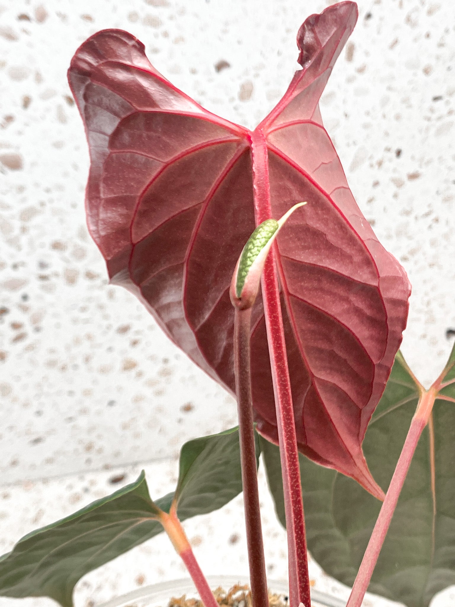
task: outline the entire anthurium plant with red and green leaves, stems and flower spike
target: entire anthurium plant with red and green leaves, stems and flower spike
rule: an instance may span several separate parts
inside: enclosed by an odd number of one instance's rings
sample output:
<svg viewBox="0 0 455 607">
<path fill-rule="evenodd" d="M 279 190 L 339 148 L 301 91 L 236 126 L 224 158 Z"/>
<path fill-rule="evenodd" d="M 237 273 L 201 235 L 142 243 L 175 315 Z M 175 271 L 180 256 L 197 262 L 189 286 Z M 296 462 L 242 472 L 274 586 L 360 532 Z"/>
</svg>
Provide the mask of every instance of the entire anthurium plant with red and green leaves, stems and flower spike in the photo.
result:
<svg viewBox="0 0 455 607">
<path fill-rule="evenodd" d="M 426 607 L 455 583 L 455 351 L 429 390 L 399 353 L 410 285 L 318 107 L 356 20 L 354 2 L 306 19 L 301 69 L 254 131 L 176 89 L 127 32 L 76 51 L 87 221 L 110 280 L 237 397 L 238 428 L 184 444 L 175 492 L 152 499 L 141 474 L 19 540 L 0 559 L 0 594 L 71 607 L 81 576 L 165 531 L 215 607 L 181 521 L 243 491 L 252 604 L 266 607 L 260 455 L 287 529 L 291 607 L 311 606 L 307 547 L 352 585 L 347 607 L 368 588 Z"/>
</svg>

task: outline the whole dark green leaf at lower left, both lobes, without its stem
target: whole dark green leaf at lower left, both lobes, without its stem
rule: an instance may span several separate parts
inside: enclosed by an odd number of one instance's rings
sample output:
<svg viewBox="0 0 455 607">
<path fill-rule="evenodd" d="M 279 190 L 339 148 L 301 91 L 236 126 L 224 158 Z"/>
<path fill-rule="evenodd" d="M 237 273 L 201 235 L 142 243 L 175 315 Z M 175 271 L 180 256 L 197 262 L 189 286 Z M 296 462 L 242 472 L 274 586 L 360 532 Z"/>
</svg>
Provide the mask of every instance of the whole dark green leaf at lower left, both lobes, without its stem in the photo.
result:
<svg viewBox="0 0 455 607">
<path fill-rule="evenodd" d="M 0 595 L 47 596 L 72 607 L 76 582 L 161 533 L 157 519 L 161 510 L 169 512 L 173 501 L 178 517 L 185 520 L 221 508 L 240 492 L 237 428 L 189 441 L 181 449 L 174 493 L 153 502 L 141 472 L 135 483 L 25 535 L 0 558 Z"/>
</svg>

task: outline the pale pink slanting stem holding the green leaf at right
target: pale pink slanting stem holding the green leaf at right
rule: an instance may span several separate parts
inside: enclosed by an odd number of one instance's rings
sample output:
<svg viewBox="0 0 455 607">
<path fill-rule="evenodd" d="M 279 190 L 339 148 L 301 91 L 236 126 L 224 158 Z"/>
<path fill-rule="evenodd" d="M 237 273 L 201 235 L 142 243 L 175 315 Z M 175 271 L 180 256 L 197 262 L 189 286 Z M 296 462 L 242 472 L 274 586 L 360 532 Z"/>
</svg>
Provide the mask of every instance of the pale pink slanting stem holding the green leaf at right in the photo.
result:
<svg viewBox="0 0 455 607">
<path fill-rule="evenodd" d="M 360 607 L 362 605 L 363 597 L 368 589 L 403 483 L 405 482 L 409 466 L 411 465 L 414 451 L 416 450 L 420 435 L 422 434 L 428 419 L 430 419 L 436 395 L 437 387 L 435 387 L 434 384 L 428 392 L 422 390 L 420 393 L 416 413 L 414 413 L 411 426 L 409 426 L 405 444 L 403 445 L 385 500 L 380 509 L 379 517 L 377 518 L 373 532 L 369 538 L 368 546 L 363 555 L 362 563 L 360 564 L 359 572 L 357 572 L 357 577 L 352 586 L 351 595 L 349 596 L 346 607 Z"/>
</svg>

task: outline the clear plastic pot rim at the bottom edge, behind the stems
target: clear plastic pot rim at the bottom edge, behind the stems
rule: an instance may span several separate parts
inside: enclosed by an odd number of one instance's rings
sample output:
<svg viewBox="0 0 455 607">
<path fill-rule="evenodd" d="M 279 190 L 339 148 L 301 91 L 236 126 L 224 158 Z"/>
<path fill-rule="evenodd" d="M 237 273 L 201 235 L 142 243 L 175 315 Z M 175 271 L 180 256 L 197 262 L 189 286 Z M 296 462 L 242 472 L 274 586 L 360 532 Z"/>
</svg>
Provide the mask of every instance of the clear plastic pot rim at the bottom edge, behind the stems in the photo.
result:
<svg viewBox="0 0 455 607">
<path fill-rule="evenodd" d="M 244 575 L 207 575 L 207 581 L 211 588 L 221 586 L 224 590 L 229 590 L 235 584 L 248 584 L 248 578 Z M 288 594 L 288 585 L 286 582 L 268 581 L 269 589 L 276 594 Z M 185 578 L 183 580 L 172 580 L 171 582 L 161 582 L 153 586 L 144 586 L 138 590 L 133 590 L 121 597 L 116 597 L 98 605 L 97 607 L 167 607 L 171 597 L 181 597 L 186 594 L 187 597 L 197 597 L 197 592 L 192 580 Z M 335 597 L 331 597 L 324 592 L 314 590 L 311 592 L 312 607 L 345 607 L 346 603 Z"/>
</svg>

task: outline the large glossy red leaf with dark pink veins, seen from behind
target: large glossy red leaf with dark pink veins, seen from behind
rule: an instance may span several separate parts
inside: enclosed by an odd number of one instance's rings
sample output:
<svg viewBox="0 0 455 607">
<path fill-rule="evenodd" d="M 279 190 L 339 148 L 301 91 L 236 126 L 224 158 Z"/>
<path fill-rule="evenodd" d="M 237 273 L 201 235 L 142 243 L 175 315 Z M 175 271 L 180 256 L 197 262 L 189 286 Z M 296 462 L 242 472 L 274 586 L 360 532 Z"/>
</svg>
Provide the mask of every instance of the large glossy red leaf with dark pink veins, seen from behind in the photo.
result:
<svg viewBox="0 0 455 607">
<path fill-rule="evenodd" d="M 298 447 L 380 495 L 361 444 L 410 288 L 352 197 L 318 109 L 356 19 L 353 2 L 306 19 L 297 36 L 303 69 L 260 127 L 273 216 L 308 201 L 277 239 Z M 69 80 L 90 146 L 89 229 L 112 282 L 138 294 L 170 339 L 233 392 L 229 283 L 255 227 L 251 132 L 172 86 L 121 30 L 84 42 Z M 251 342 L 258 429 L 276 442 L 260 298 Z"/>
</svg>

